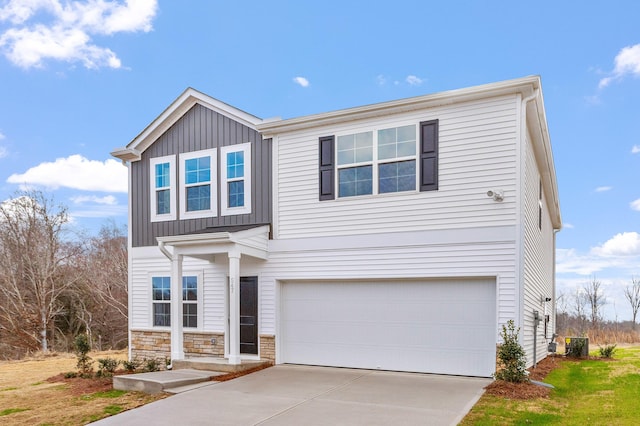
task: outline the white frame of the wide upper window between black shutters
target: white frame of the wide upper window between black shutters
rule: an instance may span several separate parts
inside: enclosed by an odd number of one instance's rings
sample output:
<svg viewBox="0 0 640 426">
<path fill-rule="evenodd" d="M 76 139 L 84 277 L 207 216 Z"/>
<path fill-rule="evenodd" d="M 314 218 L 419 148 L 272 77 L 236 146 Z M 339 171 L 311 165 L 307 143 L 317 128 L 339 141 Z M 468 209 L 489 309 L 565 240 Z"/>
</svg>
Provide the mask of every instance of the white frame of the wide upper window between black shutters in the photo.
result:
<svg viewBox="0 0 640 426">
<path fill-rule="evenodd" d="M 386 129 L 397 129 L 400 127 L 406 126 L 414 126 L 415 129 L 415 151 L 412 156 L 401 156 L 394 158 L 378 158 L 378 132 Z M 339 164 L 338 162 L 338 139 L 341 136 L 355 135 L 359 133 L 372 133 L 372 159 L 369 161 L 361 161 L 349 164 Z M 334 191 L 336 199 L 350 199 L 350 198 L 359 198 L 359 197 L 378 197 L 378 196 L 388 196 L 391 194 L 409 194 L 416 193 L 420 191 L 420 126 L 419 123 L 415 121 L 407 121 L 407 122 L 398 122 L 398 123 L 389 123 L 388 125 L 381 125 L 375 127 L 366 127 L 359 129 L 350 129 L 348 132 L 340 132 L 335 134 L 335 148 L 334 148 L 334 162 L 335 162 L 335 181 L 334 181 Z M 400 163 L 403 161 L 414 161 L 415 162 L 415 186 L 414 189 L 408 191 L 392 191 L 392 192 L 380 192 L 380 165 L 381 164 L 390 164 L 390 163 Z M 372 166 L 372 183 L 371 183 L 371 193 L 370 194 L 362 194 L 362 195 L 349 195 L 349 196 L 340 196 L 340 170 L 351 169 L 360 166 Z"/>
</svg>

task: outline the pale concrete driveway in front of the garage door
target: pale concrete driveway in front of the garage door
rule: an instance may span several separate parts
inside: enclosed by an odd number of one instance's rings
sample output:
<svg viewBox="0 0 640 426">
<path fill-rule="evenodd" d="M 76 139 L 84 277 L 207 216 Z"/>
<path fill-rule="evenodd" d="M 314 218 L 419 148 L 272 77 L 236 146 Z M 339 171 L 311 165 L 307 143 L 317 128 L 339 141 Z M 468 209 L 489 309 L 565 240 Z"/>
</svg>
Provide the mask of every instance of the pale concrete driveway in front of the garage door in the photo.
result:
<svg viewBox="0 0 640 426">
<path fill-rule="evenodd" d="M 96 425 L 455 425 L 491 379 L 277 365 Z"/>
</svg>

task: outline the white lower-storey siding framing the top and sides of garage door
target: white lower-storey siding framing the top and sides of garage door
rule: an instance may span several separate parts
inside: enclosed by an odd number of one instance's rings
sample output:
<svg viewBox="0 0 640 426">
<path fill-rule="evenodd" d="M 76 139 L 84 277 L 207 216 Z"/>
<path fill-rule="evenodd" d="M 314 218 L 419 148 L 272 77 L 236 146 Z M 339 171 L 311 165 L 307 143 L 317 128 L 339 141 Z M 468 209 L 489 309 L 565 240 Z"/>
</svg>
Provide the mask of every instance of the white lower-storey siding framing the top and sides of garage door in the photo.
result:
<svg viewBox="0 0 640 426">
<path fill-rule="evenodd" d="M 261 333 L 276 333 L 278 282 L 300 280 L 492 277 L 503 323 L 516 315 L 515 254 L 511 226 L 273 240 L 261 268 Z"/>
</svg>

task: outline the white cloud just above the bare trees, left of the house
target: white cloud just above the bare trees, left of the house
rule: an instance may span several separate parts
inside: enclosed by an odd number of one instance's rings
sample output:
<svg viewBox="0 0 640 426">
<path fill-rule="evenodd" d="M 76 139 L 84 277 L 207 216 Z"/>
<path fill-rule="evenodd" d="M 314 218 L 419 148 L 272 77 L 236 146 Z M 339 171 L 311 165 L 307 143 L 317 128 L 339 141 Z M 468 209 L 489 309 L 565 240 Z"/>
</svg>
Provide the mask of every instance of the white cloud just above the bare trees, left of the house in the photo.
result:
<svg viewBox="0 0 640 426">
<path fill-rule="evenodd" d="M 76 154 L 41 163 L 22 174 L 13 174 L 7 182 L 51 189 L 127 192 L 127 168 L 116 160 L 88 160 Z"/>
</svg>

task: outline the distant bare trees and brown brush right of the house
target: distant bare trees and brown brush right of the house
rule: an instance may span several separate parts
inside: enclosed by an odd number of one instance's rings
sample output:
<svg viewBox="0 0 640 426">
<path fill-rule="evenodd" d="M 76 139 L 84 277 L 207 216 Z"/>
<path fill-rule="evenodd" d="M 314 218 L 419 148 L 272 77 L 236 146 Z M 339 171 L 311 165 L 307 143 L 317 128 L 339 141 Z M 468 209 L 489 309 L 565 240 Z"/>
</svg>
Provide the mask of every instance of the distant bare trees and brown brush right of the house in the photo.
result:
<svg viewBox="0 0 640 426">
<path fill-rule="evenodd" d="M 556 298 L 556 330 L 561 336 L 589 336 L 594 343 L 637 343 L 640 341 L 638 312 L 640 311 L 640 279 L 631 277 L 624 288 L 631 307 L 631 318 L 607 321 L 603 317 L 606 295 L 602 282 L 595 276 L 574 293 L 562 293 Z"/>
</svg>

